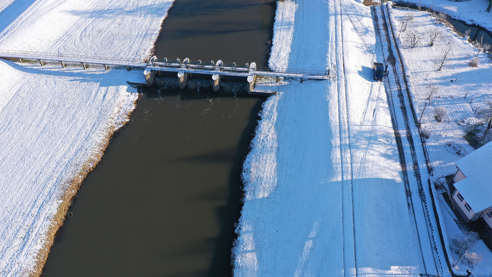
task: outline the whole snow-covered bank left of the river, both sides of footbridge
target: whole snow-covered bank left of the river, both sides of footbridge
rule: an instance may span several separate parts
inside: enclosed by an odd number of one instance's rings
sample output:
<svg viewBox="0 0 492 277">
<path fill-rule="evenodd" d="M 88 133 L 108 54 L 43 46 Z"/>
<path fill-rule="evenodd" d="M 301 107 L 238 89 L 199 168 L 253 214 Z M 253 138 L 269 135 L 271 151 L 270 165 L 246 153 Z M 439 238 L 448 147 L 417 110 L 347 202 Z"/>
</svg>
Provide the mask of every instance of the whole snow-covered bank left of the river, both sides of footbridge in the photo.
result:
<svg viewBox="0 0 492 277">
<path fill-rule="evenodd" d="M 145 58 L 173 0 L 0 1 L 0 49 Z M 140 70 L 0 60 L 0 276 L 39 274 L 63 211 L 138 98 Z"/>
</svg>

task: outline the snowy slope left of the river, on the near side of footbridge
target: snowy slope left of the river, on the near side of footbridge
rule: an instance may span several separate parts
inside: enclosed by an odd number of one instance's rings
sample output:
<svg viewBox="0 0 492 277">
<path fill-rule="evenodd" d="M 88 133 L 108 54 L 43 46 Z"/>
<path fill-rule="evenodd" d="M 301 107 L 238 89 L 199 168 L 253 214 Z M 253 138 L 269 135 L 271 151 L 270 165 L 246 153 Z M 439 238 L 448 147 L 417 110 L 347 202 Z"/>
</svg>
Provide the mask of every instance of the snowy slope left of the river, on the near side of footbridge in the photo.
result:
<svg viewBox="0 0 492 277">
<path fill-rule="evenodd" d="M 0 276 L 33 268 L 67 183 L 138 96 L 126 85 L 137 71 L 45 67 L 0 60 Z"/>
</svg>

